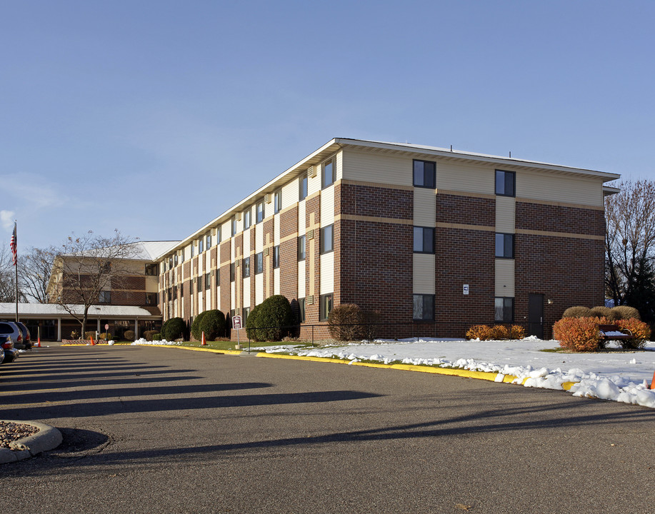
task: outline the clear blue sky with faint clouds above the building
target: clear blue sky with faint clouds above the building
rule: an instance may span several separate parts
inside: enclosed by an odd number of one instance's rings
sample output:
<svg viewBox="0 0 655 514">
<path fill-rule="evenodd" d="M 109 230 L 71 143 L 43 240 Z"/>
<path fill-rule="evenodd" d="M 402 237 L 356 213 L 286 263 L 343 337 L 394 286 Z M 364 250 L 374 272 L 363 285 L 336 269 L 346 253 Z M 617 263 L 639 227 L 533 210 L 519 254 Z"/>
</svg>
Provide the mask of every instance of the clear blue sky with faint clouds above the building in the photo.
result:
<svg viewBox="0 0 655 514">
<path fill-rule="evenodd" d="M 0 234 L 184 238 L 333 137 L 655 178 L 655 2 L 2 2 Z"/>
</svg>

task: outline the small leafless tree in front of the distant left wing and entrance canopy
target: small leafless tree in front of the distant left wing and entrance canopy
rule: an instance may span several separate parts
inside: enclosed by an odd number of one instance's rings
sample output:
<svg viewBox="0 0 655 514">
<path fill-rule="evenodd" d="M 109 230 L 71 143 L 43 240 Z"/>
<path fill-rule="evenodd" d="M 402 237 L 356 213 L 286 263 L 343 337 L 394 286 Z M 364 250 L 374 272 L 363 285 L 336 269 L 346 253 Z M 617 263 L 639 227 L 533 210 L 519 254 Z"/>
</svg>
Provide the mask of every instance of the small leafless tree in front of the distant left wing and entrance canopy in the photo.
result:
<svg viewBox="0 0 655 514">
<path fill-rule="evenodd" d="M 58 303 L 81 324 L 81 336 L 86 330 L 89 308 L 107 303 L 112 289 L 123 288 L 129 273 L 128 261 L 137 248 L 129 237 L 114 231 L 114 236 L 69 236 L 54 258 L 48 289 L 50 301 Z"/>
</svg>

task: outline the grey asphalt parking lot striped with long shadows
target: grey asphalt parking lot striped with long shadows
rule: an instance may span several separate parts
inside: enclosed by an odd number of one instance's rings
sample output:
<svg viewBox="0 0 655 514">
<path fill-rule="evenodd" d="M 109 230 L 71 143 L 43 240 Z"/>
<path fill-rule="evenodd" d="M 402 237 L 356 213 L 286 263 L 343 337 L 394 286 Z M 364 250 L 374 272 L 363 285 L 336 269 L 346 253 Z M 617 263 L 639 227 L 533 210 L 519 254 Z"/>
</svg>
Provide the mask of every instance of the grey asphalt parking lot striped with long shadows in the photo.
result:
<svg viewBox="0 0 655 514">
<path fill-rule="evenodd" d="M 39 348 L 0 419 L 64 442 L 0 466 L 11 513 L 654 510 L 655 412 L 425 373 L 138 346 Z"/>
</svg>

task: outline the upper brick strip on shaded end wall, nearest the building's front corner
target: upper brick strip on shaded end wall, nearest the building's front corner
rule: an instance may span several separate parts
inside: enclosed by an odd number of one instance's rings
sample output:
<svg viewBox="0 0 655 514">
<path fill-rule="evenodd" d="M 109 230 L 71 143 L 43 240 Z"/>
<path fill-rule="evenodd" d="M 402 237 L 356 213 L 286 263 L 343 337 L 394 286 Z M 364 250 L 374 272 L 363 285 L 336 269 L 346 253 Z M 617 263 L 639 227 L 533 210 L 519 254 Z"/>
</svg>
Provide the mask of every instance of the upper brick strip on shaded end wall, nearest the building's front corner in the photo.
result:
<svg viewBox="0 0 655 514">
<path fill-rule="evenodd" d="M 414 217 L 414 192 L 343 184 L 335 186 L 334 204 L 341 214 L 375 218 L 411 219 Z"/>
</svg>

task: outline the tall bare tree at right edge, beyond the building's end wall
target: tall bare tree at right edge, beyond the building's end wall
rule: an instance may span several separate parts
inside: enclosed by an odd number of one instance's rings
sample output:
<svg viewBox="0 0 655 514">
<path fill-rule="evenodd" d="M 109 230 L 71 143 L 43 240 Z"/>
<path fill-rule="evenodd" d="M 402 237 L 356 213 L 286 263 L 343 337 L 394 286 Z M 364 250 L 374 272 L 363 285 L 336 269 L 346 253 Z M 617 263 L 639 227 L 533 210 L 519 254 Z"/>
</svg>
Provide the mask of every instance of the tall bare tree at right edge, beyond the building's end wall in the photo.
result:
<svg viewBox="0 0 655 514">
<path fill-rule="evenodd" d="M 615 305 L 654 321 L 655 181 L 624 181 L 605 198 L 605 288 Z"/>
</svg>

